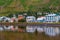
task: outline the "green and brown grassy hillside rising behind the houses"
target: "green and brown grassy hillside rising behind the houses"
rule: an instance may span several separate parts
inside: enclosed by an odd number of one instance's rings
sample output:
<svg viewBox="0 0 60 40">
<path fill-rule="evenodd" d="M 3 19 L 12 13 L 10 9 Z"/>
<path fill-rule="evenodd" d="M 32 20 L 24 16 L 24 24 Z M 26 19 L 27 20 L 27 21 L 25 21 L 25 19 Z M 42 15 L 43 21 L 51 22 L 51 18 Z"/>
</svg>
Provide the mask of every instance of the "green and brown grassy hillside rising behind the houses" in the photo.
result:
<svg viewBox="0 0 60 40">
<path fill-rule="evenodd" d="M 60 0 L 0 0 L 0 13 L 42 11 L 44 8 L 57 11 L 60 9 Z"/>
</svg>

